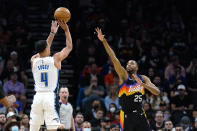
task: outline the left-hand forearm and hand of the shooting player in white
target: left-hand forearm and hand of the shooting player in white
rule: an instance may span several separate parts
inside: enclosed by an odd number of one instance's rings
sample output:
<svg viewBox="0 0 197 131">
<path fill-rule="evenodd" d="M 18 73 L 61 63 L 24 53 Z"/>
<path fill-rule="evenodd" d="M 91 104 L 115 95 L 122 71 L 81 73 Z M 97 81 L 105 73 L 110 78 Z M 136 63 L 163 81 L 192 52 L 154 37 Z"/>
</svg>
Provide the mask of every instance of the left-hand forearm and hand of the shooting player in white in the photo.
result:
<svg viewBox="0 0 197 131">
<path fill-rule="evenodd" d="M 59 25 L 57 21 L 52 20 L 51 22 L 51 32 L 47 38 L 47 44 L 51 47 L 55 34 L 57 33 Z"/>
</svg>

